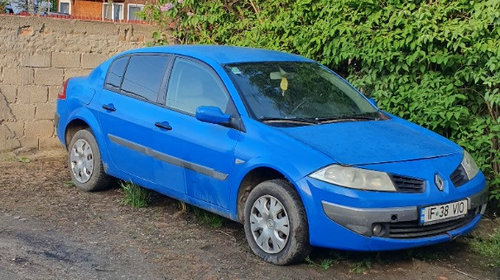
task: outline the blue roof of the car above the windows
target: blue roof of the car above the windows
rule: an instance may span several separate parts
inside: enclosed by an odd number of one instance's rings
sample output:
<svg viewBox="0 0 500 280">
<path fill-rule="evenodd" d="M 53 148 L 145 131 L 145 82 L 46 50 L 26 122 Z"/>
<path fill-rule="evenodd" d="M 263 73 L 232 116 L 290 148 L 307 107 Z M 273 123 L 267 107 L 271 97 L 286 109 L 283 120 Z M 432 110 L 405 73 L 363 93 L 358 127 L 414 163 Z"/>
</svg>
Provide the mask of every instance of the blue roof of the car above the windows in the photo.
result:
<svg viewBox="0 0 500 280">
<path fill-rule="evenodd" d="M 126 53 L 168 53 L 190 56 L 202 61 L 213 61 L 218 64 L 264 62 L 264 61 L 297 61 L 313 62 L 308 58 L 266 49 L 216 45 L 171 45 L 161 47 L 140 48 Z"/>
</svg>

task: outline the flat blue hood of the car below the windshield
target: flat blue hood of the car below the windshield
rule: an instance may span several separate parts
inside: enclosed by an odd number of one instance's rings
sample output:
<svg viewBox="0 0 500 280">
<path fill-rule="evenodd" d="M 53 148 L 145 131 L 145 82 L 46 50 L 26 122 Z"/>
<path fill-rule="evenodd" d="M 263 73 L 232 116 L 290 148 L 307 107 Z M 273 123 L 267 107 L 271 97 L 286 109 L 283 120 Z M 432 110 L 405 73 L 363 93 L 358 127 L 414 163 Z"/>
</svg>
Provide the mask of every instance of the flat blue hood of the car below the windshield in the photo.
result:
<svg viewBox="0 0 500 280">
<path fill-rule="evenodd" d="M 396 117 L 279 129 L 348 165 L 418 160 L 461 152 L 448 139 Z"/>
</svg>

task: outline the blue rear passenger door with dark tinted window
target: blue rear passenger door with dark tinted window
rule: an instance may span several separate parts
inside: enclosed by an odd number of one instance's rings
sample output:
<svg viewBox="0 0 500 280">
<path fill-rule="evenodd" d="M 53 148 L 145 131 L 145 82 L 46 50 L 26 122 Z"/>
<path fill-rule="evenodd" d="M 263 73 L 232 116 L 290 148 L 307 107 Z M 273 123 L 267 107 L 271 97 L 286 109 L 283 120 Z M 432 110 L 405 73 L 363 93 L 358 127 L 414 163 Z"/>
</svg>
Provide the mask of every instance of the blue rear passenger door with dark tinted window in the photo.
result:
<svg viewBox="0 0 500 280">
<path fill-rule="evenodd" d="M 153 160 L 153 147 L 168 145 L 168 123 L 159 123 L 167 111 L 160 105 L 171 56 L 137 54 L 117 58 L 110 66 L 98 100 L 98 116 L 112 164 L 125 177 L 155 182 L 168 174 L 168 186 L 185 194 L 184 171 Z"/>
</svg>

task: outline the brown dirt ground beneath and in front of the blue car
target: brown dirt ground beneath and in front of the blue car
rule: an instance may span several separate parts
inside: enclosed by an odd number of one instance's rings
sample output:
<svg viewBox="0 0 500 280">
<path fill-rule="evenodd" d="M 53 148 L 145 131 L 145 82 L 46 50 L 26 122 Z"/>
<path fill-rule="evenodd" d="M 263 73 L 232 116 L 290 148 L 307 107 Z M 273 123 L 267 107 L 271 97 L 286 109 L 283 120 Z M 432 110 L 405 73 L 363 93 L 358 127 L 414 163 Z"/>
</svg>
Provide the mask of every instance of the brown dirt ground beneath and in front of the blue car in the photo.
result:
<svg viewBox="0 0 500 280">
<path fill-rule="evenodd" d="M 287 267 L 257 259 L 243 227 L 203 224 L 176 200 L 120 203 L 114 188 L 85 193 L 70 183 L 64 154 L 0 160 L 0 279 L 500 279 L 466 238 L 383 253 L 314 249 Z M 478 233 L 499 226 L 482 222 Z"/>
</svg>

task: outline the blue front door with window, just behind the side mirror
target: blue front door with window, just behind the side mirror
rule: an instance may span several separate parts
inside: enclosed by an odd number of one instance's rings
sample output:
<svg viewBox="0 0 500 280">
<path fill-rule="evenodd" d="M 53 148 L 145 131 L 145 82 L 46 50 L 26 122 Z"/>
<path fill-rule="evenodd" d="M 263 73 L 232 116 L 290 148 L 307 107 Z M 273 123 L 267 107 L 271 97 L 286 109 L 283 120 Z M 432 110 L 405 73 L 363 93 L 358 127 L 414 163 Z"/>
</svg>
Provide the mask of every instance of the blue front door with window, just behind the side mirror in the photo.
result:
<svg viewBox="0 0 500 280">
<path fill-rule="evenodd" d="M 233 102 L 218 75 L 201 62 L 177 57 L 168 81 L 163 115 L 172 129 L 168 146 L 158 149 L 183 166 L 187 194 L 222 208 L 229 205 L 228 176 L 234 168 L 234 148 L 240 131 L 196 119 L 199 106 L 216 106 L 236 115 Z M 158 183 L 169 178 L 157 176 Z"/>
</svg>

